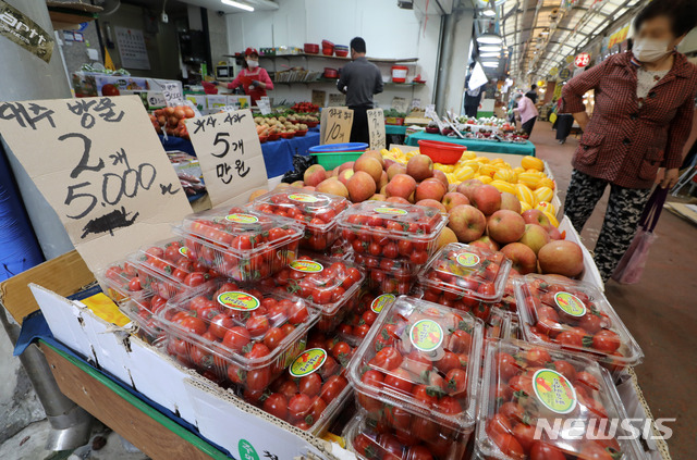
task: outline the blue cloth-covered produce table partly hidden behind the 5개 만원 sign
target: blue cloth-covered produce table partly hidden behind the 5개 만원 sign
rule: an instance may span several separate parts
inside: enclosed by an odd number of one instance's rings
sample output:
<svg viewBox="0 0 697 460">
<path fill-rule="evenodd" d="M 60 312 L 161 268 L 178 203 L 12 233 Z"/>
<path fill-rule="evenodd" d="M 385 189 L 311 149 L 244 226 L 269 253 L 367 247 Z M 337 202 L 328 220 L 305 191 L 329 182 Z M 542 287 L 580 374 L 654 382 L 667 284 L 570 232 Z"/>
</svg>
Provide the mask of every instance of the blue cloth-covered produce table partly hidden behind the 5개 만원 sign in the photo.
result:
<svg viewBox="0 0 697 460">
<path fill-rule="evenodd" d="M 169 136 L 167 139 L 164 136 L 159 137 L 166 151 L 181 150 L 196 156 L 189 140 L 174 136 Z M 309 130 L 303 137 L 261 144 L 267 177 L 282 176 L 288 171 L 293 171 L 293 156 L 307 154 L 307 150 L 315 146 L 319 146 L 319 129 Z"/>
</svg>

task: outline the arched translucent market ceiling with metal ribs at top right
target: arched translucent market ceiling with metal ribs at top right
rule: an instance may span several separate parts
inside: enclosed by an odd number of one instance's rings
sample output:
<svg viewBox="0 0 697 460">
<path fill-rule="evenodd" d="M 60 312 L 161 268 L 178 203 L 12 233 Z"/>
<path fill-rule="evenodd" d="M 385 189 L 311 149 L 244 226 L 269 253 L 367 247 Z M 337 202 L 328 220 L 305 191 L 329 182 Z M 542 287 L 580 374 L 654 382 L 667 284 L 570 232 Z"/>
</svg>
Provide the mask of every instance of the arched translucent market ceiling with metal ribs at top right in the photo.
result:
<svg viewBox="0 0 697 460">
<path fill-rule="evenodd" d="M 643 0 L 505 0 L 499 32 L 511 75 L 543 78 Z"/>
</svg>

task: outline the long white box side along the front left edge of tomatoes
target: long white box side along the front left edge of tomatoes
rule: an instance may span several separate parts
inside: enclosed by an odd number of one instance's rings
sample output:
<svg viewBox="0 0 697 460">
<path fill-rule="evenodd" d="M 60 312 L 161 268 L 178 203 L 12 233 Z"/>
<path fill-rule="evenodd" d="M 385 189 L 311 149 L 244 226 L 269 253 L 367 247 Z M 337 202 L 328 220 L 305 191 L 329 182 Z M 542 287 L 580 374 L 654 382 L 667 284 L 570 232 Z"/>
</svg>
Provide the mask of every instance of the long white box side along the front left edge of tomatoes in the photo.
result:
<svg viewBox="0 0 697 460">
<path fill-rule="evenodd" d="M 230 450 L 235 458 L 248 458 L 247 449 L 259 452 L 258 458 L 266 451 L 273 452 L 279 460 L 292 460 L 307 452 L 333 458 L 328 443 L 274 421 L 129 335 L 129 330 L 96 316 L 81 302 L 35 284 L 29 287 L 58 340 L 197 426 L 204 437 Z"/>
</svg>

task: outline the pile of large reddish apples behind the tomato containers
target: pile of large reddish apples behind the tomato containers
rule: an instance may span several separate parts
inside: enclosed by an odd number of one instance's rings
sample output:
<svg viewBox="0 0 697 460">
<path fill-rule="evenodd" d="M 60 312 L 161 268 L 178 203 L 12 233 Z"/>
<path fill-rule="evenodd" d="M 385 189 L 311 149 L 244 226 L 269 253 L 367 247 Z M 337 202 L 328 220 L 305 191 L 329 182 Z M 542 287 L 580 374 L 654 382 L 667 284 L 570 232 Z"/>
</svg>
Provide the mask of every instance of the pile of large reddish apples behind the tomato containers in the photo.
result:
<svg viewBox="0 0 697 460">
<path fill-rule="evenodd" d="M 439 246 L 460 241 L 501 251 L 513 262 L 514 274 L 575 277 L 584 269 L 580 247 L 564 240 L 557 219 L 548 211 L 523 210 L 518 197 L 476 178 L 449 184 L 445 173 L 424 154 L 412 156 L 403 165 L 371 150 L 332 171 L 311 165 L 304 181 L 291 185 L 353 202 L 379 200 L 436 208 L 450 217 Z"/>
</svg>

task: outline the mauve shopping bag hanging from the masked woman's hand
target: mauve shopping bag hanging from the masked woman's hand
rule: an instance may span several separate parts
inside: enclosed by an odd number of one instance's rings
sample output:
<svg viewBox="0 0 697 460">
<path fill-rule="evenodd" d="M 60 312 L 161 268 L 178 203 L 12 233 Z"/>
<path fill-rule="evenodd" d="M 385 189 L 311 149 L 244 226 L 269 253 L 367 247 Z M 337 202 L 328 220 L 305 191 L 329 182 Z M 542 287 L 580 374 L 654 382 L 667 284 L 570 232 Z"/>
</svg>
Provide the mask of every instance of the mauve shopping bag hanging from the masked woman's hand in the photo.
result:
<svg viewBox="0 0 697 460">
<path fill-rule="evenodd" d="M 649 249 L 657 238 L 653 229 L 658 223 L 658 217 L 661 215 L 667 197 L 668 188 L 656 187 L 641 214 L 639 231 L 632 240 L 629 249 L 620 260 L 612 274 L 612 279 L 621 284 L 636 284 L 641 279 L 641 273 L 644 273 L 644 266 L 649 257 Z"/>
</svg>

